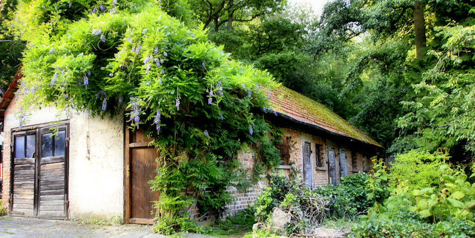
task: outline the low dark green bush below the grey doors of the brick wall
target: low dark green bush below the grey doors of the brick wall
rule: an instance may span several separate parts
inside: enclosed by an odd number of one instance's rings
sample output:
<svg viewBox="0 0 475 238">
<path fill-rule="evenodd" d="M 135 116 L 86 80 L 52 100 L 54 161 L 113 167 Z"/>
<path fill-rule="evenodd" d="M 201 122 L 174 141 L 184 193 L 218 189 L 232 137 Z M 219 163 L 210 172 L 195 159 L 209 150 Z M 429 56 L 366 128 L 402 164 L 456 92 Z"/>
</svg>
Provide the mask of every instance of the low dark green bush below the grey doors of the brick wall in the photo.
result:
<svg viewBox="0 0 475 238">
<path fill-rule="evenodd" d="M 366 198 L 366 195 L 372 192 L 368 181 L 369 177 L 365 173 L 348 175 L 341 179 L 338 186 L 333 184 L 321 186 L 315 192 L 330 201 L 328 215 L 352 217 L 374 205 L 373 200 Z M 377 193 L 376 199 L 381 201 L 384 195 Z"/>
</svg>

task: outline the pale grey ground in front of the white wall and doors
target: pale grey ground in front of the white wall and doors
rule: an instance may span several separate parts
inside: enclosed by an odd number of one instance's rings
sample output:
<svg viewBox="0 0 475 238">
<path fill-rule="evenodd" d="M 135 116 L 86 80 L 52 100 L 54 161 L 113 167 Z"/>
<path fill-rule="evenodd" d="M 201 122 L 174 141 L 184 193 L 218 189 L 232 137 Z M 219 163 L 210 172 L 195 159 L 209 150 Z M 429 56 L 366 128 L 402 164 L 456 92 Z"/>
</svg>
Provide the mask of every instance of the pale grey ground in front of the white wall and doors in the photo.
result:
<svg viewBox="0 0 475 238">
<path fill-rule="evenodd" d="M 76 221 L 51 221 L 36 218 L 0 217 L 0 238 L 167 238 L 152 233 L 151 225 L 95 225 Z M 184 238 L 211 238 L 184 234 Z"/>
</svg>

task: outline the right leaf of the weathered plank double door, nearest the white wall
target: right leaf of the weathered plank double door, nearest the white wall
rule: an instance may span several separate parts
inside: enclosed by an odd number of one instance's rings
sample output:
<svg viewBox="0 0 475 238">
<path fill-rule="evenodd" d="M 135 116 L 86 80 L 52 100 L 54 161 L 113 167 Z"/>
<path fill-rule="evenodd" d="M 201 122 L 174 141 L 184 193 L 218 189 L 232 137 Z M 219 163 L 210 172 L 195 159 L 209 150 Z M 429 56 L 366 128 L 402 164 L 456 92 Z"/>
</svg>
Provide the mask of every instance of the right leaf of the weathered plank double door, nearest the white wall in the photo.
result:
<svg viewBox="0 0 475 238">
<path fill-rule="evenodd" d="M 37 164 L 39 218 L 67 218 L 67 134 L 66 127 L 58 128 L 55 134 L 49 128 L 40 130 Z"/>
</svg>

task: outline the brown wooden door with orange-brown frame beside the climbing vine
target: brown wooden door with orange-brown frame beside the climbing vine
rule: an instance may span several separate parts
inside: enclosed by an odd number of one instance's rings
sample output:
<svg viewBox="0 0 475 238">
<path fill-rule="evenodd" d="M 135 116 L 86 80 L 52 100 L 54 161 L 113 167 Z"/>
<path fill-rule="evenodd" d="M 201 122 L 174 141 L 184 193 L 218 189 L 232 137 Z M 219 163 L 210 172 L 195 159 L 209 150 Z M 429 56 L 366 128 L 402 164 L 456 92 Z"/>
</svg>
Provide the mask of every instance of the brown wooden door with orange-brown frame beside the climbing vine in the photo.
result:
<svg viewBox="0 0 475 238">
<path fill-rule="evenodd" d="M 159 193 L 152 192 L 149 180 L 157 175 L 157 149 L 149 147 L 150 138 L 143 130 L 131 132 L 126 129 L 126 222 L 153 223 L 153 201 Z"/>
</svg>

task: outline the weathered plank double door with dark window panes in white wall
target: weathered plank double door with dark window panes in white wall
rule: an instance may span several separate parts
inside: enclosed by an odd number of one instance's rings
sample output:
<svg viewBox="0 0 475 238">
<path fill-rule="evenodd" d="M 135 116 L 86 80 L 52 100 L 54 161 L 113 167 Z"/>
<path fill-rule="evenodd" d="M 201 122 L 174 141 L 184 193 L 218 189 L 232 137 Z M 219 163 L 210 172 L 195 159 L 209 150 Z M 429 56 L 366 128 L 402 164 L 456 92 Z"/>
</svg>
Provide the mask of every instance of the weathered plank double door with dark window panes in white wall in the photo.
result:
<svg viewBox="0 0 475 238">
<path fill-rule="evenodd" d="M 67 219 L 68 137 L 67 124 L 12 133 L 12 215 Z"/>
</svg>

